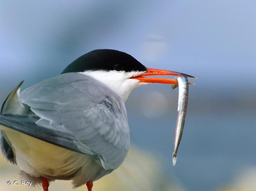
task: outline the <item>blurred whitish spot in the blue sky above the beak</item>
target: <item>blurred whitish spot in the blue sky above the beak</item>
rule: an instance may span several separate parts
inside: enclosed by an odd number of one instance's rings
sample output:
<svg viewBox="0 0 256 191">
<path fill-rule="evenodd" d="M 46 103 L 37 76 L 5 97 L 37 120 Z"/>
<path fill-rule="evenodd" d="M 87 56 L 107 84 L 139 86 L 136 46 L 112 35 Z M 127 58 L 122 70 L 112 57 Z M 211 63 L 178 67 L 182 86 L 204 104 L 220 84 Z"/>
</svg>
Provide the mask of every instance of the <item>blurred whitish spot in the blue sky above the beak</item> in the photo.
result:
<svg viewBox="0 0 256 191">
<path fill-rule="evenodd" d="M 149 35 L 142 43 L 142 58 L 145 62 L 156 62 L 166 50 L 167 43 L 163 36 Z"/>
</svg>

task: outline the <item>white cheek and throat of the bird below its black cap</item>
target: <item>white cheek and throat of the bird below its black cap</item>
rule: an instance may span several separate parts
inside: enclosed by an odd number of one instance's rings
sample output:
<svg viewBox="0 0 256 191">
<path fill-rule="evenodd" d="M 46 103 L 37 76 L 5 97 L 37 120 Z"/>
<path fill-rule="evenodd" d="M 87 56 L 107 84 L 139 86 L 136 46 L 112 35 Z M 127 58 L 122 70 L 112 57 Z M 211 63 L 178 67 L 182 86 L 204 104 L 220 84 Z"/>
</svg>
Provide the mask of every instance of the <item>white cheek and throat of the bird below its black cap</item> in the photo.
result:
<svg viewBox="0 0 256 191">
<path fill-rule="evenodd" d="M 130 77 L 137 76 L 144 72 L 140 71 L 84 71 L 81 74 L 90 76 L 107 87 L 112 91 L 116 92 L 119 97 L 125 102 L 130 94 L 130 92 L 136 87 L 145 85 L 147 83 L 140 83 L 137 79 L 129 79 Z"/>
</svg>

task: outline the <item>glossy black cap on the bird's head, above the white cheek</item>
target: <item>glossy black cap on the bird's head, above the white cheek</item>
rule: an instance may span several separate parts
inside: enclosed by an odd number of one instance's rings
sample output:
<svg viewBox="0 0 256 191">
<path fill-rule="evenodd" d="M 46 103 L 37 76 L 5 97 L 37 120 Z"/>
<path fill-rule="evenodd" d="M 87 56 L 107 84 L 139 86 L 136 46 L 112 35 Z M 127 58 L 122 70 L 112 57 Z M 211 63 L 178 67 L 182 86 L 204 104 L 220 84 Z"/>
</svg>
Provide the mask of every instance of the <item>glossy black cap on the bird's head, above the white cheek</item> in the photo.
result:
<svg viewBox="0 0 256 191">
<path fill-rule="evenodd" d="M 147 71 L 142 65 L 131 55 L 118 50 L 98 49 L 92 50 L 76 59 L 61 73 L 84 72 L 84 71 Z"/>
</svg>

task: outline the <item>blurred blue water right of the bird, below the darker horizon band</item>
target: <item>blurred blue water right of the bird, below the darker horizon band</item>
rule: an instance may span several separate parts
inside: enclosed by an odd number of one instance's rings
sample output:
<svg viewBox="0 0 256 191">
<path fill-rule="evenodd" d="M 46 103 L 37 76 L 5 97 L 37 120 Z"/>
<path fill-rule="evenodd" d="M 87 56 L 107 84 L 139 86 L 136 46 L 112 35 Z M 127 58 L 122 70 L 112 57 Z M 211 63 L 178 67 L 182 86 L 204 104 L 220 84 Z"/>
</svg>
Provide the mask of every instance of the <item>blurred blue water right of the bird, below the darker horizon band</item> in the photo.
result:
<svg viewBox="0 0 256 191">
<path fill-rule="evenodd" d="M 172 167 L 175 112 L 143 119 L 129 115 L 132 141 L 164 159 L 165 170 L 187 190 L 211 191 L 230 183 L 243 168 L 256 165 L 254 113 L 188 111 L 175 167 Z M 142 136 L 143 134 L 143 136 Z"/>
</svg>

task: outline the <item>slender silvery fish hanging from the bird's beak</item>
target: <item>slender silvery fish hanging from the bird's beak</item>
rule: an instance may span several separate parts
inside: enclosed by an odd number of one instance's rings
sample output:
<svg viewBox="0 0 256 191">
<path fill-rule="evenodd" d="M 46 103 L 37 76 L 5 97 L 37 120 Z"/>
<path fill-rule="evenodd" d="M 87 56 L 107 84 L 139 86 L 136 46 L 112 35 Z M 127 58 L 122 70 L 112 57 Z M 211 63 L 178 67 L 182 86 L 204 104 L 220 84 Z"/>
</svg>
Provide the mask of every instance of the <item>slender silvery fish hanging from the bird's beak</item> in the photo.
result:
<svg viewBox="0 0 256 191">
<path fill-rule="evenodd" d="M 176 129 L 174 136 L 174 151 L 172 154 L 172 165 L 175 166 L 177 161 L 177 152 L 178 147 L 180 145 L 180 141 L 182 138 L 186 113 L 187 113 L 187 105 L 188 105 L 188 79 L 185 76 L 177 76 L 178 81 L 178 109 L 177 109 L 177 121 L 176 121 Z M 172 89 L 175 89 L 177 85 L 172 86 Z"/>
</svg>

